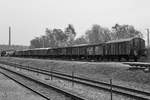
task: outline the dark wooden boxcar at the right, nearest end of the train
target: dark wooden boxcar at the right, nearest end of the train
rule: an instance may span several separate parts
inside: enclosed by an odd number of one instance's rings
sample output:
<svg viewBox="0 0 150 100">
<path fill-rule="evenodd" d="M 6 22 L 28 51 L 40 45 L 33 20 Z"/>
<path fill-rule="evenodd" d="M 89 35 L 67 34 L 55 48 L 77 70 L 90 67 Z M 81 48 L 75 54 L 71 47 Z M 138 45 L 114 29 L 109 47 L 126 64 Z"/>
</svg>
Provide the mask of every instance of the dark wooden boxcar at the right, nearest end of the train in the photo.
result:
<svg viewBox="0 0 150 100">
<path fill-rule="evenodd" d="M 135 61 L 143 54 L 145 41 L 142 38 L 128 38 L 106 42 L 105 57 L 107 59 L 125 58 Z"/>
</svg>

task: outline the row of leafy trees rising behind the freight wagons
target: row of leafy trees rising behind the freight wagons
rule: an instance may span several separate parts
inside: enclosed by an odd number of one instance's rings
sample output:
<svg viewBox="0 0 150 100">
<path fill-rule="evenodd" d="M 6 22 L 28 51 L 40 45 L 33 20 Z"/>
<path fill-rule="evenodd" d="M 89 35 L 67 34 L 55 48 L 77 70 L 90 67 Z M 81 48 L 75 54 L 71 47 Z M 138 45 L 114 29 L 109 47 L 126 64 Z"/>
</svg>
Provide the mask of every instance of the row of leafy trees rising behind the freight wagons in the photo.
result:
<svg viewBox="0 0 150 100">
<path fill-rule="evenodd" d="M 110 40 L 125 39 L 131 37 L 143 37 L 142 33 L 132 25 L 114 25 L 111 29 L 94 24 L 84 35 L 76 38 L 73 25 L 69 24 L 62 29 L 45 29 L 45 35 L 36 37 L 30 41 L 30 48 L 66 47 L 79 44 L 97 44 Z"/>
</svg>

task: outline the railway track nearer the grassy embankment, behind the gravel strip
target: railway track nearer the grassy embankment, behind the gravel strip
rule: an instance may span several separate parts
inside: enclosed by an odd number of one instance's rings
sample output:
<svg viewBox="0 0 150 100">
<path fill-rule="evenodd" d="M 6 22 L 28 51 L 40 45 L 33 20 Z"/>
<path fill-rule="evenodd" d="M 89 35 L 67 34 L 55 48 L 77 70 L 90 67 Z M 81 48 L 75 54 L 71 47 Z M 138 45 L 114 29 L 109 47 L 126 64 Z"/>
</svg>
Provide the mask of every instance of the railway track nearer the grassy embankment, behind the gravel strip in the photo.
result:
<svg viewBox="0 0 150 100">
<path fill-rule="evenodd" d="M 104 82 L 80 78 L 80 77 L 62 74 L 62 73 L 58 73 L 58 72 L 54 72 L 54 71 L 53 72 L 47 71 L 44 69 L 37 69 L 37 68 L 31 67 L 31 66 L 23 66 L 21 64 L 14 64 L 14 63 L 7 63 L 7 62 L 0 62 L 0 63 L 10 65 L 12 67 L 30 70 L 30 71 L 41 73 L 44 75 L 49 75 L 51 77 L 56 77 L 56 78 L 61 78 L 61 79 L 68 80 L 68 81 L 73 81 L 73 82 L 76 82 L 79 84 L 84 84 L 84 85 L 91 86 L 94 88 L 103 89 L 106 91 L 112 91 L 113 93 L 125 95 L 125 96 L 135 98 L 138 100 L 149 100 L 150 99 L 150 93 L 146 92 L 146 91 L 131 89 L 131 88 L 118 86 L 118 85 L 110 85 L 110 84 L 104 83 Z M 110 90 L 110 87 L 112 87 L 112 90 Z"/>
</svg>

